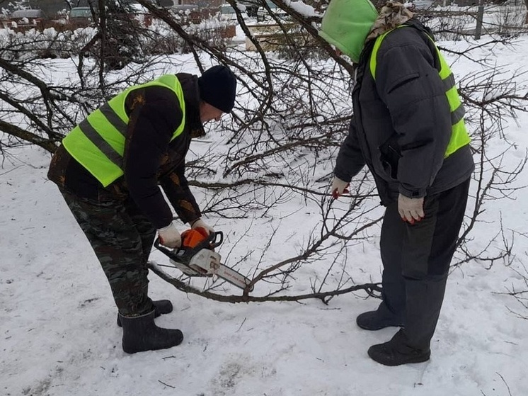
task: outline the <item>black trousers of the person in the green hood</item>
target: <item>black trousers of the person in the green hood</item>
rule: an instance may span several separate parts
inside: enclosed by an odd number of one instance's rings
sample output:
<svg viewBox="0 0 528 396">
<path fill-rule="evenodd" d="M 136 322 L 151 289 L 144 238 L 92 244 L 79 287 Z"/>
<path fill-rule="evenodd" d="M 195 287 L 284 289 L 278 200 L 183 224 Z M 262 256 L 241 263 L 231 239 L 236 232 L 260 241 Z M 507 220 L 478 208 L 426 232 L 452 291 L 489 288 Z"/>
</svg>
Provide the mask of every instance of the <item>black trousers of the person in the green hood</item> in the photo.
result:
<svg viewBox="0 0 528 396">
<path fill-rule="evenodd" d="M 456 247 L 469 179 L 448 191 L 426 196 L 425 217 L 403 222 L 398 203 L 386 208 L 381 225 L 383 302 L 405 324 L 410 346 L 428 349 L 444 300 L 449 264 Z"/>
</svg>

